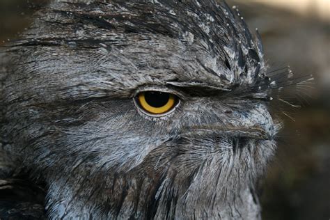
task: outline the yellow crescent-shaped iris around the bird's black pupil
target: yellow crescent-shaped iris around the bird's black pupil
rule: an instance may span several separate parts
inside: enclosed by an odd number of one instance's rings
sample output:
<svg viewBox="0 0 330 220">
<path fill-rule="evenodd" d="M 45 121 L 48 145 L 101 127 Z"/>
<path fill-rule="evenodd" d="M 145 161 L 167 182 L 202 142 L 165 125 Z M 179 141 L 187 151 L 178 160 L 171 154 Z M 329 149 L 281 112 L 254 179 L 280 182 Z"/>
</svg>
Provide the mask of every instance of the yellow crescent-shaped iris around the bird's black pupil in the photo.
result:
<svg viewBox="0 0 330 220">
<path fill-rule="evenodd" d="M 152 103 L 148 103 L 146 100 L 146 93 L 139 93 L 138 100 L 143 110 L 153 114 L 166 113 L 167 111 L 170 111 L 175 105 L 175 96 L 172 94 L 168 94 L 167 102 L 161 107 L 155 107 L 152 106 Z"/>
</svg>

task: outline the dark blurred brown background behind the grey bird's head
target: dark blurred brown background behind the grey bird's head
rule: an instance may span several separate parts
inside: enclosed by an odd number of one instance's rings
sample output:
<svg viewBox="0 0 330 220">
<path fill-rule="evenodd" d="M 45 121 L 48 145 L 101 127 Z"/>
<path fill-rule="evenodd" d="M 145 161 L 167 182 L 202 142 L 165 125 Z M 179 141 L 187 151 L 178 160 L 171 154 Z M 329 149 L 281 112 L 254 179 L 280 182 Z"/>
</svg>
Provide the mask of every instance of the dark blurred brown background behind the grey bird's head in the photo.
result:
<svg viewBox="0 0 330 220">
<path fill-rule="evenodd" d="M 19 38 L 45 2 L 0 0 L 0 46 Z M 289 111 L 293 119 L 279 113 L 285 127 L 261 190 L 263 219 L 330 219 L 329 16 L 256 1 L 228 3 L 239 7 L 251 29 L 258 27 L 271 69 L 290 65 L 293 72 L 315 77 L 314 88 L 299 92 L 301 109 Z"/>
</svg>

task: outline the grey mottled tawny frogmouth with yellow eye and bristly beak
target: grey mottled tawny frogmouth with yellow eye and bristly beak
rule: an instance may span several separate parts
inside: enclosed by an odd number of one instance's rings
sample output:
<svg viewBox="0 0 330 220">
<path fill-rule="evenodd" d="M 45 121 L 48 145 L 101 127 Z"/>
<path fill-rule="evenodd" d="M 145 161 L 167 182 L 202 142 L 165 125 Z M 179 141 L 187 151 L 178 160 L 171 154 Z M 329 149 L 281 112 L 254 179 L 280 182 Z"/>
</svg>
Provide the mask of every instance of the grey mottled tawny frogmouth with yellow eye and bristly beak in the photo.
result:
<svg viewBox="0 0 330 220">
<path fill-rule="evenodd" d="M 33 19 L 0 58 L 1 219 L 261 218 L 280 81 L 238 8 L 53 0 Z"/>
</svg>

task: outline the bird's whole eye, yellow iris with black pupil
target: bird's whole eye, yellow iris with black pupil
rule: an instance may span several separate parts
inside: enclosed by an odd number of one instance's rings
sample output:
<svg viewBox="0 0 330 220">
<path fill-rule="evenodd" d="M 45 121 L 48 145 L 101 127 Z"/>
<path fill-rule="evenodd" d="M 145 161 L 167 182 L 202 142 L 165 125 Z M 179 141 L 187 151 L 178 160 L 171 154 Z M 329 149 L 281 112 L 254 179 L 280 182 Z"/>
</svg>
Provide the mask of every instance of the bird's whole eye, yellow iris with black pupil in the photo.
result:
<svg viewBox="0 0 330 220">
<path fill-rule="evenodd" d="M 146 91 L 139 93 L 136 102 L 140 109 L 152 116 L 162 116 L 178 105 L 178 97 L 171 93 Z"/>
</svg>

